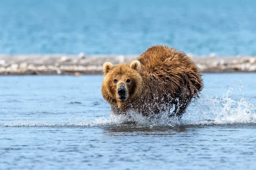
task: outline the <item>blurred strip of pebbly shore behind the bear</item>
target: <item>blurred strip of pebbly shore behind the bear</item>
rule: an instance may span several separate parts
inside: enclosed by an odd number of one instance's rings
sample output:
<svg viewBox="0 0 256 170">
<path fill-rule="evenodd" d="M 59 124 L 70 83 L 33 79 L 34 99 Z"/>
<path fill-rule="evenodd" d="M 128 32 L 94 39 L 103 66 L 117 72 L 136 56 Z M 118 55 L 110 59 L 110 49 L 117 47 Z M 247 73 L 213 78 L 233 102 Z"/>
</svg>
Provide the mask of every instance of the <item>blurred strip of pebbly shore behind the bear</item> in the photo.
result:
<svg viewBox="0 0 256 170">
<path fill-rule="evenodd" d="M 189 57 L 203 73 L 256 72 L 256 56 Z M 0 75 L 102 74 L 104 62 L 129 62 L 137 55 L 0 55 Z"/>
</svg>

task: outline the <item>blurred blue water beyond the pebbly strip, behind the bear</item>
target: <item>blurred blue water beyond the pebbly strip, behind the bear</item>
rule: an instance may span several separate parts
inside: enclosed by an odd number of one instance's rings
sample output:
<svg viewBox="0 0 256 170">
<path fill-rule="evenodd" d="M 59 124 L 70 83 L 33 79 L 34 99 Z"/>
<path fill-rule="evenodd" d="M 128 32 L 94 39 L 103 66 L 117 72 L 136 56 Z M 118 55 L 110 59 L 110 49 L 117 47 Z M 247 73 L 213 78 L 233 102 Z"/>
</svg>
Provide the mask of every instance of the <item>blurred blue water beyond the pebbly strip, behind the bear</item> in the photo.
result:
<svg viewBox="0 0 256 170">
<path fill-rule="evenodd" d="M 0 54 L 256 55 L 255 0 L 0 0 Z"/>
</svg>

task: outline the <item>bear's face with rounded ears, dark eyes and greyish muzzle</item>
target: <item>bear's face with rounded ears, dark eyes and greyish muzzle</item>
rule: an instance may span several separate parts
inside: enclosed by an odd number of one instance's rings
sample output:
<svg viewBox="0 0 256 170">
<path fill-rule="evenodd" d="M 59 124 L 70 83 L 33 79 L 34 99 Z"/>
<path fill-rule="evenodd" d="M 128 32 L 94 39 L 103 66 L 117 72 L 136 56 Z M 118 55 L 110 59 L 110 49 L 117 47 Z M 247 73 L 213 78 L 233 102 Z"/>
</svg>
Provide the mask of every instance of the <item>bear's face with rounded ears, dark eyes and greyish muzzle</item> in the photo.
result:
<svg viewBox="0 0 256 170">
<path fill-rule="evenodd" d="M 104 94 L 105 92 L 108 93 L 107 96 L 112 100 L 125 102 L 133 97 L 134 94 L 138 94 L 142 84 L 140 69 L 141 64 L 138 60 L 134 60 L 130 64 L 119 65 L 112 65 L 111 62 L 106 62 L 103 65 L 105 73 L 102 84 L 103 96 L 106 95 Z"/>
</svg>

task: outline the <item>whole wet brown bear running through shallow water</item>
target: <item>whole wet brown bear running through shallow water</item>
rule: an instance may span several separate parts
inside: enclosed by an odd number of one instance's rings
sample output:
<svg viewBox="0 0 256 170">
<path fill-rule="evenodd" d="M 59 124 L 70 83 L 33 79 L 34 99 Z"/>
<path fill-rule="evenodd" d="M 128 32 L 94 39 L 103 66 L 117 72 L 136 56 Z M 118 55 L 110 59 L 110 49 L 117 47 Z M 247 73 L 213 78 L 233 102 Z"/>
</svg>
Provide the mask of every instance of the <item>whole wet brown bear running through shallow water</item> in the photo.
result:
<svg viewBox="0 0 256 170">
<path fill-rule="evenodd" d="M 130 63 L 103 65 L 103 98 L 113 113 L 135 110 L 143 116 L 174 111 L 181 118 L 203 88 L 199 68 L 182 51 L 155 45 Z"/>
</svg>

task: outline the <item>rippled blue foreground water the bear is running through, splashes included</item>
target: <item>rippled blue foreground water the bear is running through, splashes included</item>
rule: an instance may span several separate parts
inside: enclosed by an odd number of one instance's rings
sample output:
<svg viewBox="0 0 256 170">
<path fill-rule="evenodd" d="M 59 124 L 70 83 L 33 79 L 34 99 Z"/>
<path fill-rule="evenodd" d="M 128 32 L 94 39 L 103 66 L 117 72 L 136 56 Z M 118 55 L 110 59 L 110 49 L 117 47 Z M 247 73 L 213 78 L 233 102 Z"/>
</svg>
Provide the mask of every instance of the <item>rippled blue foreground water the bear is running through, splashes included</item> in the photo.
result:
<svg viewBox="0 0 256 170">
<path fill-rule="evenodd" d="M 179 122 L 111 115 L 102 76 L 2 76 L 0 169 L 254 169 L 255 77 L 205 74 Z"/>
</svg>

